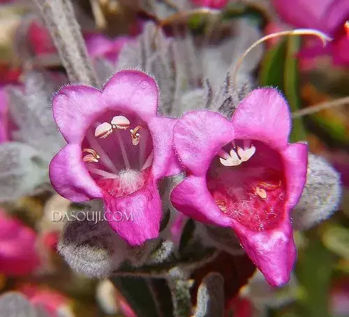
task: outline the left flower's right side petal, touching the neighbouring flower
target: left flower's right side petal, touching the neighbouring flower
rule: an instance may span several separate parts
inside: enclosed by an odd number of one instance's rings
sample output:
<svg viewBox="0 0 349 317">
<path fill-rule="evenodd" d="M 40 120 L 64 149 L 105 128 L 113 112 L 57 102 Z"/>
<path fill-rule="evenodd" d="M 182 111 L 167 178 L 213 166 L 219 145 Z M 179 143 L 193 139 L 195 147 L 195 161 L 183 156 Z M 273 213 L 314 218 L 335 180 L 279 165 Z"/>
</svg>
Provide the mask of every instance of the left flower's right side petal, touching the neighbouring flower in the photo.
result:
<svg viewBox="0 0 349 317">
<path fill-rule="evenodd" d="M 177 119 L 155 117 L 148 121 L 154 146 L 153 174 L 156 179 L 183 172 L 172 144 Z"/>
</svg>

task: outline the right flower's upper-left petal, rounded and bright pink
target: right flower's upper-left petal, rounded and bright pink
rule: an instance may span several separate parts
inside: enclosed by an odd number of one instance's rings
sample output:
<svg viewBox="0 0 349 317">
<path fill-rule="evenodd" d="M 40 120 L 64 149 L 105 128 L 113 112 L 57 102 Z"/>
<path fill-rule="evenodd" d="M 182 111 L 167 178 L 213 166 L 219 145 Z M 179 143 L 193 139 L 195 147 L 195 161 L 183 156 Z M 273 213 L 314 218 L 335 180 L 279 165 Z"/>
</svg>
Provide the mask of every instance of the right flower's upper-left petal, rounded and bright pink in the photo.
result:
<svg viewBox="0 0 349 317">
<path fill-rule="evenodd" d="M 186 113 L 173 130 L 179 161 L 193 175 L 205 175 L 212 158 L 233 139 L 231 122 L 216 112 L 205 110 Z"/>
</svg>

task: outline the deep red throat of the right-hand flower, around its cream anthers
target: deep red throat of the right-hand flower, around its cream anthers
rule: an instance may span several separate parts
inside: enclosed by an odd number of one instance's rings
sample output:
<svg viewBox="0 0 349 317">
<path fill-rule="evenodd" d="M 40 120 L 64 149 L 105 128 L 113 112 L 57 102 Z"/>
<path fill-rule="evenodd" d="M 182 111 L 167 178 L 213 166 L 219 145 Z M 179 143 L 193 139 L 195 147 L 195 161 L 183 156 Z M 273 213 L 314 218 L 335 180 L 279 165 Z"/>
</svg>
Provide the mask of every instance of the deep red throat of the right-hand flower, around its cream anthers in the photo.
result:
<svg viewBox="0 0 349 317">
<path fill-rule="evenodd" d="M 251 230 L 274 228 L 282 219 L 286 200 L 283 161 L 278 152 L 252 141 L 255 153 L 248 161 L 224 166 L 216 156 L 207 171 L 207 187 L 218 207 Z M 242 140 L 223 150 L 244 149 Z M 239 157 L 240 158 L 240 157 Z"/>
</svg>

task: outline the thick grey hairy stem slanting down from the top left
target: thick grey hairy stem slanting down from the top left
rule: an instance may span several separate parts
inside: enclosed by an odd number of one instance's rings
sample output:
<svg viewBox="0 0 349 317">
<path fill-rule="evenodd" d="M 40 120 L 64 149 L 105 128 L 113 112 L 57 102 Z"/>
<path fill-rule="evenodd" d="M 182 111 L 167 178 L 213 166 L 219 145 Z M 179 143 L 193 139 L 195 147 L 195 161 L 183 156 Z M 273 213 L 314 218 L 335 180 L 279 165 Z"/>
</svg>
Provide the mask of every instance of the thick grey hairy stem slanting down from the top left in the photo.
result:
<svg viewBox="0 0 349 317">
<path fill-rule="evenodd" d="M 99 87 L 70 0 L 31 0 L 49 29 L 71 82 Z"/>
</svg>

